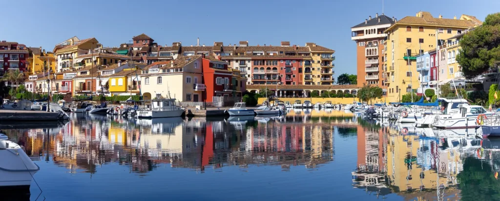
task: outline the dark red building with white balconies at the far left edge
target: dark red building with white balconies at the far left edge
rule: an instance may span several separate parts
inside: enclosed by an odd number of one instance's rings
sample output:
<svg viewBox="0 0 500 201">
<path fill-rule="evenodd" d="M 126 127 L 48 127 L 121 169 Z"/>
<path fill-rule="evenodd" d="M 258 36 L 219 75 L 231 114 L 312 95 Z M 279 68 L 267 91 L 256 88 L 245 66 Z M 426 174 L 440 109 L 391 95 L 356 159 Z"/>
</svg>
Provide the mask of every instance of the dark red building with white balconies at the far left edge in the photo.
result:
<svg viewBox="0 0 500 201">
<path fill-rule="evenodd" d="M 26 70 L 26 58 L 28 51 L 26 45 L 18 44 L 17 42 L 7 42 L 5 40 L 0 42 L 0 72 L 7 70 L 19 70 L 21 72 Z"/>
</svg>

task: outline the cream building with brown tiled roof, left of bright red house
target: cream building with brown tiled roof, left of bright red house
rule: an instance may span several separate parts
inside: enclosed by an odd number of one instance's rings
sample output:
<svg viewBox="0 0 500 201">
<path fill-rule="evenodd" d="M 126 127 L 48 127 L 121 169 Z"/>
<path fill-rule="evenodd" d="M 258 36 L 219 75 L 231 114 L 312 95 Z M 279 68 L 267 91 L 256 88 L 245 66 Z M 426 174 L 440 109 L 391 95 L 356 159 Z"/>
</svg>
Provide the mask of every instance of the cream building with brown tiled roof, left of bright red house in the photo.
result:
<svg viewBox="0 0 500 201">
<path fill-rule="evenodd" d="M 193 83 L 202 82 L 202 56 L 178 56 L 172 61 L 158 61 L 146 66 L 141 73 L 141 91 L 144 97 L 175 98 L 193 101 L 193 95 L 202 97 L 202 91 Z"/>
</svg>

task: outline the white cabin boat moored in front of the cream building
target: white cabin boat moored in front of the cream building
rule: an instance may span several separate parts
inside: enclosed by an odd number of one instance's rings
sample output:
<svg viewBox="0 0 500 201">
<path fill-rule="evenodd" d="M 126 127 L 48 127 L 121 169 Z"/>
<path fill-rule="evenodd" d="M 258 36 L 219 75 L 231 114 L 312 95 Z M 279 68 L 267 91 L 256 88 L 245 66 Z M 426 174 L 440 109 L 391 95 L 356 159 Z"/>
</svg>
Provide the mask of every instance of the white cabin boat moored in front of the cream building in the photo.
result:
<svg viewBox="0 0 500 201">
<path fill-rule="evenodd" d="M 185 109 L 175 105 L 175 99 L 151 100 L 150 109 L 138 109 L 137 118 L 180 117 Z"/>
</svg>

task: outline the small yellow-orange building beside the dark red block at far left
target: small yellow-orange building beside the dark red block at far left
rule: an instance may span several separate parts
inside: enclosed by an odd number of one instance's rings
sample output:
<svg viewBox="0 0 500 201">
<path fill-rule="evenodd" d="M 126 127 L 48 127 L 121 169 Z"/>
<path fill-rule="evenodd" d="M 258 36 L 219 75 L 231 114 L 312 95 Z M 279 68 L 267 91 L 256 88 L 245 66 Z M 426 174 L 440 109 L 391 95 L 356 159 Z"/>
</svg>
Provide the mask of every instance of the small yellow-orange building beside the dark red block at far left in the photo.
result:
<svg viewBox="0 0 500 201">
<path fill-rule="evenodd" d="M 56 71 L 55 56 L 53 52 L 45 52 L 41 47 L 28 47 L 28 58 L 26 59 L 29 65 L 27 66 L 29 74 L 38 74 L 47 72 L 50 68 L 53 72 Z M 43 69 L 43 66 L 46 66 Z"/>
</svg>

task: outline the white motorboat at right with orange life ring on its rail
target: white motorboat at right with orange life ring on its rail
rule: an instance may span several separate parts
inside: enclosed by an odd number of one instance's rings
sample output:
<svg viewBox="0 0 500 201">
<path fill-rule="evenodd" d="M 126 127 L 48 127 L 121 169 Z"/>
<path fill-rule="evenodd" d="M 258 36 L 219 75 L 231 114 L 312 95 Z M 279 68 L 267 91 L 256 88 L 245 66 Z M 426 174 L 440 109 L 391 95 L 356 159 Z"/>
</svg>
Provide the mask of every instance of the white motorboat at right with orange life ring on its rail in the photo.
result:
<svg viewBox="0 0 500 201">
<path fill-rule="evenodd" d="M 432 127 L 439 129 L 478 128 L 485 119 L 496 118 L 498 114 L 486 112 L 479 105 L 459 104 L 460 113 L 437 115 Z"/>
</svg>

